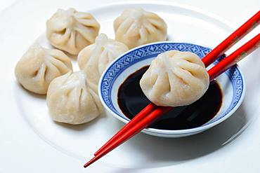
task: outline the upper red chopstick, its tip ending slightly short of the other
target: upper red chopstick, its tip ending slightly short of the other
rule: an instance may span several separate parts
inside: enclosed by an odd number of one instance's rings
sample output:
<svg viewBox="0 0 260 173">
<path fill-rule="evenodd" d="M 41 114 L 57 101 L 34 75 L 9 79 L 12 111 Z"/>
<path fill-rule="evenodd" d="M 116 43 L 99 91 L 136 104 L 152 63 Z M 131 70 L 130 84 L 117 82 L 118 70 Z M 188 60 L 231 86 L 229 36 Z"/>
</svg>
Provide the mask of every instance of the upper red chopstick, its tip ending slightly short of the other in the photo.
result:
<svg viewBox="0 0 260 173">
<path fill-rule="evenodd" d="M 233 34 L 230 34 L 227 39 L 222 41 L 219 46 L 216 46 L 214 50 L 212 50 L 210 53 L 208 53 L 205 57 L 203 57 L 202 62 L 204 62 L 205 66 L 208 67 L 209 64 L 212 64 L 219 55 L 223 54 L 228 48 L 233 46 L 235 43 L 237 43 L 238 39 L 242 39 L 243 36 L 245 36 L 252 28 L 256 27 L 256 25 L 259 25 L 260 19 L 260 11 L 257 12 L 252 18 L 247 20 L 241 27 L 239 27 Z M 216 67 L 215 67 L 216 68 Z M 213 71 L 210 71 L 212 73 Z M 108 145 L 112 144 L 117 137 L 124 134 L 127 130 L 129 130 L 131 127 L 133 127 L 139 120 L 143 119 L 148 113 L 152 112 L 152 110 L 156 109 L 155 104 L 148 104 L 148 106 L 143 109 L 138 115 L 136 115 L 129 123 L 124 125 L 124 127 L 117 132 L 105 145 L 103 145 L 94 155 L 97 155 L 100 153 L 100 151 L 103 151 L 104 148 L 106 148 Z"/>
</svg>

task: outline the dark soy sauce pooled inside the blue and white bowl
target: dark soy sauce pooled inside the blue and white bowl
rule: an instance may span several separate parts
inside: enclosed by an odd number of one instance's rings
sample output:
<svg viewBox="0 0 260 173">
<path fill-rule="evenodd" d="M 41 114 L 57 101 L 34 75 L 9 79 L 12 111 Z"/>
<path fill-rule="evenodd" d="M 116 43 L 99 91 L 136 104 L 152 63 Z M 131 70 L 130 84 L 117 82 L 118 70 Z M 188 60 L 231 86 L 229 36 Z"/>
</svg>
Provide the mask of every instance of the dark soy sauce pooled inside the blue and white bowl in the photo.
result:
<svg viewBox="0 0 260 173">
<path fill-rule="evenodd" d="M 150 103 L 139 85 L 139 81 L 147 69 L 148 66 L 134 72 L 119 87 L 117 102 L 124 115 L 129 119 L 134 118 Z M 197 102 L 188 106 L 175 107 L 149 127 L 162 130 L 183 130 L 199 127 L 216 116 L 221 104 L 221 88 L 216 81 L 212 81 L 207 92 Z"/>
</svg>

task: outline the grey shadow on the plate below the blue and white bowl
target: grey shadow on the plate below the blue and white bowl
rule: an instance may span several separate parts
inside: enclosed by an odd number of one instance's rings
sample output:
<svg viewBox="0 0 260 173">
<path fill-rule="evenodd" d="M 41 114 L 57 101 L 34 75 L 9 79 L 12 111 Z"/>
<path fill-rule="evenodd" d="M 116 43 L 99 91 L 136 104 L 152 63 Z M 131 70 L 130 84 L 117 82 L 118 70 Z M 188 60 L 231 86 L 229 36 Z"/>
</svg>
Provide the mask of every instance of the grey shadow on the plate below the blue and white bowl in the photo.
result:
<svg viewBox="0 0 260 173">
<path fill-rule="evenodd" d="M 249 122 L 241 105 L 233 116 L 200 134 L 181 138 L 161 138 L 142 133 L 130 140 L 127 147 L 134 147 L 133 149 L 145 155 L 149 162 L 164 162 L 162 166 L 176 165 L 213 153 L 229 144 L 245 130 Z"/>
</svg>

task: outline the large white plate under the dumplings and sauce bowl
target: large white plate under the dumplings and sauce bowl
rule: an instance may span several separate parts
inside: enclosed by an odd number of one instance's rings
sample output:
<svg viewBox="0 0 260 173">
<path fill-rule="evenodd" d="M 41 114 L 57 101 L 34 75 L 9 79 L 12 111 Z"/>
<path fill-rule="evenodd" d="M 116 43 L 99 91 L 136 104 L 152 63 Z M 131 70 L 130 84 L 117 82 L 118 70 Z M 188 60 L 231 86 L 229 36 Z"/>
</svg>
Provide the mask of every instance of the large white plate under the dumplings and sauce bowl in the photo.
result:
<svg viewBox="0 0 260 173">
<path fill-rule="evenodd" d="M 63 6 L 67 8 L 69 4 Z M 89 9 L 87 6 L 89 2 L 86 1 L 74 4 L 79 11 L 86 11 Z M 129 6 L 142 6 L 145 10 L 154 11 L 162 16 L 169 26 L 169 39 L 173 41 L 194 42 L 214 47 L 233 30 L 228 22 L 210 13 L 188 6 L 156 1 L 105 5 L 88 11 L 100 22 L 100 32 L 113 37 L 112 21 L 123 8 Z M 56 172 L 87 171 L 82 169 L 82 164 L 123 124 L 106 113 L 86 125 L 54 123 L 48 116 L 45 98 L 23 90 L 16 83 L 13 74 L 15 63 L 44 32 L 44 21 L 56 10 L 54 6 L 34 4 L 39 13 L 34 15 L 32 11 L 22 11 L 20 8 L 22 3 L 13 6 L 10 11 L 4 11 L 0 18 L 0 38 L 3 43 L 0 105 L 3 106 L 1 110 L 4 110 L 0 120 L 0 172 L 25 172 L 29 169 L 34 172 L 53 172 L 53 169 L 56 169 Z M 44 36 L 41 36 L 39 41 L 47 45 Z M 195 168 L 203 164 L 212 172 L 212 169 L 220 165 L 236 169 L 233 164 L 239 168 L 249 161 L 256 162 L 249 158 L 259 160 L 257 152 L 260 153 L 260 147 L 256 147 L 260 145 L 258 133 L 252 130 L 249 131 L 250 134 L 247 131 L 242 132 L 253 120 L 256 121 L 254 124 L 258 123 L 256 125 L 260 127 L 259 119 L 255 118 L 259 113 L 260 101 L 258 56 L 259 50 L 240 64 L 247 82 L 247 93 L 240 109 L 228 120 L 207 132 L 181 139 L 160 139 L 138 134 L 89 167 L 89 171 L 126 172 L 134 169 L 134 172 L 195 172 Z M 259 131 L 258 126 L 254 130 L 258 128 Z M 251 141 L 247 141 L 248 138 Z M 7 157 L 9 159 L 6 159 Z M 239 158 L 244 158 L 244 161 Z M 41 163 L 45 165 L 37 169 Z M 12 164 L 17 167 L 11 167 Z M 202 172 L 202 169 L 197 169 L 197 172 Z"/>
</svg>

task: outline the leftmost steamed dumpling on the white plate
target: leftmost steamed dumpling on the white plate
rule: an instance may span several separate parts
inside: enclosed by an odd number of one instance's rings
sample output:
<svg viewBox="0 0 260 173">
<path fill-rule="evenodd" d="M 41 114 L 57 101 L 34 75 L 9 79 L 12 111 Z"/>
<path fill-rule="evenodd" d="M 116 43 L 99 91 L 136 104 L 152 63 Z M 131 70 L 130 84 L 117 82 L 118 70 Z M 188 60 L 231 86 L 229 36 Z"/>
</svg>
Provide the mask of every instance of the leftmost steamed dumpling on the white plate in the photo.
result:
<svg viewBox="0 0 260 173">
<path fill-rule="evenodd" d="M 46 94 L 53 78 L 72 70 L 70 58 L 61 50 L 46 49 L 34 43 L 15 67 L 19 83 L 37 94 Z"/>
</svg>

